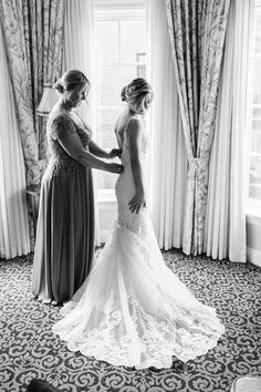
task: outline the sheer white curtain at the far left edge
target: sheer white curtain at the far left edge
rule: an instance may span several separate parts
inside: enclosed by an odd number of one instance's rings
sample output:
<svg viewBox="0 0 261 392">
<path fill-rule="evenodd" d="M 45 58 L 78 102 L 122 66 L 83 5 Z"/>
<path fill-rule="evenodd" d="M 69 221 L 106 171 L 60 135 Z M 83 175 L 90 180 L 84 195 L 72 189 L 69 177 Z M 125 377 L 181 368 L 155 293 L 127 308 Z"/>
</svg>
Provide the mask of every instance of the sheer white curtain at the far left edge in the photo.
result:
<svg viewBox="0 0 261 392">
<path fill-rule="evenodd" d="M 0 257 L 30 252 L 25 169 L 0 28 Z"/>
</svg>

